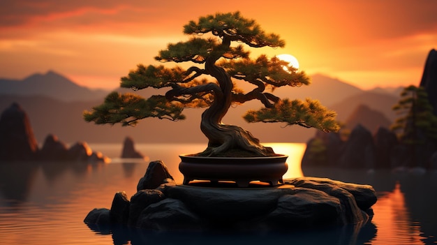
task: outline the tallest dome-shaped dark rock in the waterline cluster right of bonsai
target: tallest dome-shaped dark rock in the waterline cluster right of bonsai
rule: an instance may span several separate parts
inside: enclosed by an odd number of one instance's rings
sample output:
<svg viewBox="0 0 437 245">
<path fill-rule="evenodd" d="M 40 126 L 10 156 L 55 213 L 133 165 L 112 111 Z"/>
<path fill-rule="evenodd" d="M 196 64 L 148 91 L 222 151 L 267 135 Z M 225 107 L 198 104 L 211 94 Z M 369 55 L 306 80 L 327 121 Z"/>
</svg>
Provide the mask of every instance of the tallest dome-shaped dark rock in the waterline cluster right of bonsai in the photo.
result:
<svg viewBox="0 0 437 245">
<path fill-rule="evenodd" d="M 369 130 L 358 124 L 350 133 L 339 159 L 342 168 L 373 168 L 375 144 Z"/>
</svg>

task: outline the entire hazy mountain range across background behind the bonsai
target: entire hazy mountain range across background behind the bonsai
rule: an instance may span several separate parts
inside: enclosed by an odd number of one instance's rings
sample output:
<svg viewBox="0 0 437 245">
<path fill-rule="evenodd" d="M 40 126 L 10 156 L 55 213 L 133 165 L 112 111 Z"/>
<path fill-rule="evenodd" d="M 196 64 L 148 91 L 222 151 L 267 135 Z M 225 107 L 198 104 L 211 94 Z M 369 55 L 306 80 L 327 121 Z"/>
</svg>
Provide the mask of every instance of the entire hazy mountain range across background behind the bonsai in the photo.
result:
<svg viewBox="0 0 437 245">
<path fill-rule="evenodd" d="M 131 91 L 130 89 L 117 89 Z M 350 120 L 350 115 L 360 105 L 381 112 L 389 121 L 396 115 L 391 107 L 399 100 L 399 89 L 375 89 L 363 91 L 341 80 L 322 74 L 311 76 L 311 85 L 304 87 L 281 87 L 274 94 L 281 98 L 316 98 L 323 105 L 335 110 L 340 121 Z M 131 91 L 133 92 L 133 91 Z M 150 96 L 156 90 L 138 91 Z M 200 115 L 205 109 L 184 110 L 186 120 L 168 121 L 144 119 L 135 127 L 119 125 L 95 125 L 82 119 L 82 112 L 103 102 L 109 91 L 88 89 L 68 80 L 54 71 L 34 74 L 24 80 L 0 79 L 0 112 L 13 102 L 19 103 L 27 112 L 38 142 L 47 134 L 57 135 L 64 142 L 122 142 L 131 136 L 135 142 L 207 142 L 200 131 Z M 315 134 L 313 128 L 285 127 L 283 124 L 248 124 L 242 114 L 249 109 L 258 109 L 260 103 L 250 101 L 230 108 L 223 121 L 242 126 L 262 142 L 306 142 Z M 355 116 L 358 117 L 358 116 Z M 365 120 L 364 120 L 365 121 Z M 372 121 L 372 120 L 369 120 Z M 373 121 L 378 124 L 378 121 Z M 386 124 L 386 122 L 385 122 Z M 373 127 L 373 126 L 372 126 Z M 371 131 L 376 128 L 369 128 Z"/>
</svg>

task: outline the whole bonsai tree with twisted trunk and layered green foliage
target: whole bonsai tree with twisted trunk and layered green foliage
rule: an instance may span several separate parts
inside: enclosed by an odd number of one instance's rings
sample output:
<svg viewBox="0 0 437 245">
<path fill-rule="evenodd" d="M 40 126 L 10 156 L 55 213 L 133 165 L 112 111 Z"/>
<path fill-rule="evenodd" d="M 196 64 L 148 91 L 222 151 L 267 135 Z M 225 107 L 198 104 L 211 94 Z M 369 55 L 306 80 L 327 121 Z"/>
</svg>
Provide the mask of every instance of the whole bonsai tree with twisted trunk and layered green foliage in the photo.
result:
<svg viewBox="0 0 437 245">
<path fill-rule="evenodd" d="M 179 66 L 138 65 L 126 77 L 121 87 L 138 89 L 167 89 L 165 95 L 142 98 L 135 94 L 112 92 L 102 105 L 84 112 L 86 121 L 96 124 L 135 125 L 140 119 L 157 117 L 178 121 L 188 107 L 208 107 L 202 113 L 200 130 L 205 134 L 208 147 L 200 156 L 271 156 L 274 152 L 264 147 L 251 133 L 239 126 L 222 123 L 231 105 L 258 100 L 264 107 L 244 115 L 249 122 L 283 122 L 323 131 L 336 131 L 335 112 L 327 110 L 318 101 L 281 99 L 267 92 L 270 88 L 309 84 L 309 77 L 297 71 L 288 62 L 277 57 L 260 55 L 249 57 L 247 47 L 284 47 L 285 41 L 276 34 L 266 34 L 255 20 L 235 13 L 217 13 L 200 17 L 184 26 L 184 34 L 192 35 L 186 41 L 169 44 L 161 50 L 157 61 L 191 62 L 184 69 Z M 200 66 L 203 65 L 203 66 Z M 253 85 L 243 91 L 237 82 Z"/>
</svg>

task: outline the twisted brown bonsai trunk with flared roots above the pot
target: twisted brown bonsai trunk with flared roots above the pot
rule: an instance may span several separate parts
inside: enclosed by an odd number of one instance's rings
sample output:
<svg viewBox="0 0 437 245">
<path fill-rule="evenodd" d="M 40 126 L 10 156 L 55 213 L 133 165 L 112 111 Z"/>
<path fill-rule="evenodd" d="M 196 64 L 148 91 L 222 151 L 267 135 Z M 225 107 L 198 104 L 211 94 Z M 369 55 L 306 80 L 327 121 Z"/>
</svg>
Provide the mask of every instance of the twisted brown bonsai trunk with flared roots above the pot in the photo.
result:
<svg viewBox="0 0 437 245">
<path fill-rule="evenodd" d="M 249 131 L 239 126 L 222 124 L 221 120 L 228 112 L 232 102 L 232 80 L 228 73 L 215 65 L 218 57 L 208 57 L 205 62 L 207 74 L 218 81 L 220 91 L 214 91 L 214 102 L 202 113 L 200 129 L 208 138 L 208 148 L 201 156 L 272 156 L 274 151 L 270 147 L 263 147 L 257 138 Z M 234 151 L 234 152 L 232 152 Z M 235 153 L 235 151 L 237 153 Z M 230 153 L 232 152 L 232 153 Z M 232 155 L 231 155 L 232 156 Z"/>
</svg>

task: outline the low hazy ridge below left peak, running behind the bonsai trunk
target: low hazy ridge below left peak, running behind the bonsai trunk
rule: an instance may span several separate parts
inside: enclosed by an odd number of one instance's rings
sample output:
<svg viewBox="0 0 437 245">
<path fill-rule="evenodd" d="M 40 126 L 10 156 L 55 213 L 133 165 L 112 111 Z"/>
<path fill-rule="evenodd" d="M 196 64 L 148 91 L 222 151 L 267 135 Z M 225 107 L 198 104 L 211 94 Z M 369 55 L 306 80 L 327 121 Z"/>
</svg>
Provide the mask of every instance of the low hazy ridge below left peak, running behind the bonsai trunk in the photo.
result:
<svg viewBox="0 0 437 245">
<path fill-rule="evenodd" d="M 131 136 L 139 143 L 200 142 L 207 144 L 207 138 L 200 131 L 200 116 L 205 109 L 184 110 L 186 120 L 170 121 L 144 119 L 138 126 L 96 125 L 82 119 L 82 112 L 90 110 L 98 101 L 65 102 L 46 96 L 0 96 L 0 112 L 16 102 L 29 115 L 31 126 L 38 142 L 47 134 L 57 135 L 66 143 L 86 141 L 91 143 L 121 143 Z M 259 105 L 258 105 L 259 106 Z M 292 126 L 283 128 L 280 124 L 248 124 L 242 119 L 242 107 L 231 108 L 224 121 L 242 126 L 251 131 L 262 142 L 306 142 L 314 135 L 313 128 Z"/>
</svg>

